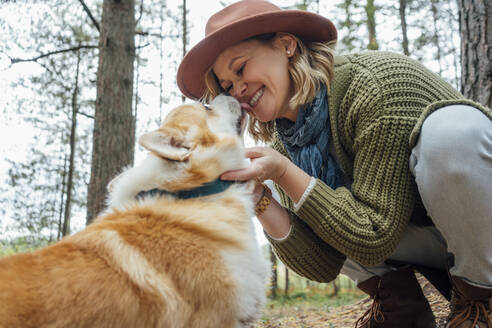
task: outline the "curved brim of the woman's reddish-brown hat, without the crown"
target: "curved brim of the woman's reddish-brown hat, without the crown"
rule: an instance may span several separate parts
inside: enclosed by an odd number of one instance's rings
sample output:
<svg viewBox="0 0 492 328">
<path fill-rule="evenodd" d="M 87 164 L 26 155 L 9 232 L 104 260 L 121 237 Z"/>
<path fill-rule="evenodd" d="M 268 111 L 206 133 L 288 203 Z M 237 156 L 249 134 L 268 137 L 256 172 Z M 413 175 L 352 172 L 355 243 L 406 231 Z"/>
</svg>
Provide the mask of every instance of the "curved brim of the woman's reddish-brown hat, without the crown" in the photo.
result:
<svg viewBox="0 0 492 328">
<path fill-rule="evenodd" d="M 200 99 L 205 92 L 205 73 L 228 47 L 255 35 L 287 32 L 306 41 L 337 39 L 335 25 L 327 18 L 307 11 L 281 10 L 239 20 L 197 43 L 178 68 L 177 83 L 188 98 Z"/>
</svg>

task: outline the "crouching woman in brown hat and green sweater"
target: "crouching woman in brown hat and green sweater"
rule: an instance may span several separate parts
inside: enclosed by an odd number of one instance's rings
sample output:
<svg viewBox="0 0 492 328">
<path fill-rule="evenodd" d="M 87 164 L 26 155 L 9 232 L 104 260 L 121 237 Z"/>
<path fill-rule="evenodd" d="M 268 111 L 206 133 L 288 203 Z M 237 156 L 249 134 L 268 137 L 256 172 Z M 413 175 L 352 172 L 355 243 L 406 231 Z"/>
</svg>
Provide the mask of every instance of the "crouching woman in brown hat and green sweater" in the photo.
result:
<svg viewBox="0 0 492 328">
<path fill-rule="evenodd" d="M 413 270 L 395 263 L 449 269 L 448 327 L 492 328 L 491 110 L 404 56 L 334 56 L 336 28 L 313 13 L 244 0 L 205 34 L 178 85 L 234 96 L 271 142 L 222 178 L 275 182 L 282 204 L 255 195 L 282 261 L 356 281 L 374 299 L 359 327 L 434 327 Z"/>
</svg>

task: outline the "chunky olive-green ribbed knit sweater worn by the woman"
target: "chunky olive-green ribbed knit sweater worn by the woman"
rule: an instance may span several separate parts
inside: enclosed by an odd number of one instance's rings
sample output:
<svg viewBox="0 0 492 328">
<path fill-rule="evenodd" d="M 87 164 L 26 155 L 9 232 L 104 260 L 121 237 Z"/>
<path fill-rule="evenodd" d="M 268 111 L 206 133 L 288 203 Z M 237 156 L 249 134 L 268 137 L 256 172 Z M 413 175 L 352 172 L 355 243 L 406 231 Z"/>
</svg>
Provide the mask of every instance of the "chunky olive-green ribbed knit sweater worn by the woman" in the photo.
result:
<svg viewBox="0 0 492 328">
<path fill-rule="evenodd" d="M 394 251 L 419 201 L 409 158 L 432 111 L 468 104 L 492 119 L 417 61 L 387 52 L 336 57 L 328 98 L 332 142 L 351 190 L 317 180 L 294 213 L 277 188 L 292 229 L 281 241 L 267 236 L 287 266 L 316 281 L 334 279 L 345 257 L 371 266 Z M 287 155 L 278 136 L 273 147 Z"/>
</svg>

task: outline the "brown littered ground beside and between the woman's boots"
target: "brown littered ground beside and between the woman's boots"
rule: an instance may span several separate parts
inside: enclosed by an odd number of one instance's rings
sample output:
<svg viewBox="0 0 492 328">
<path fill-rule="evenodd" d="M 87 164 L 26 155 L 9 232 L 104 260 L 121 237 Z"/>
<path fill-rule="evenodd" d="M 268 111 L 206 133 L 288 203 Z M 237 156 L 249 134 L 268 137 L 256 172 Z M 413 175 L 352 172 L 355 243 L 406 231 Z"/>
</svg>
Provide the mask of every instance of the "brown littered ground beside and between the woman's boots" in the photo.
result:
<svg viewBox="0 0 492 328">
<path fill-rule="evenodd" d="M 438 328 L 445 326 L 448 302 L 424 277 L 419 282 L 436 316 Z M 360 299 L 362 297 L 362 299 Z M 318 306 L 316 303 L 274 304 L 270 302 L 263 318 L 254 328 L 353 328 L 355 322 L 371 306 L 371 300 L 359 294 L 354 302 L 343 306 Z"/>
</svg>

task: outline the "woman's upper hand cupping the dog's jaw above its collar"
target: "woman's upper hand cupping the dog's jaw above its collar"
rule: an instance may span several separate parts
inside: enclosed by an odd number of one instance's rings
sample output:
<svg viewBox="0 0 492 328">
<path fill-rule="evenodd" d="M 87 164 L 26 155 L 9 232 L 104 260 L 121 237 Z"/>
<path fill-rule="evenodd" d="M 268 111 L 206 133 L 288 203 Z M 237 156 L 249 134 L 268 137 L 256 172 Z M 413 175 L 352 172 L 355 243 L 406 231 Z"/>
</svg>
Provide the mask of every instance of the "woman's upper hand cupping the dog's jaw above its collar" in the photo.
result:
<svg viewBox="0 0 492 328">
<path fill-rule="evenodd" d="M 220 178 L 222 180 L 256 180 L 258 182 L 270 179 L 278 182 L 290 164 L 290 161 L 285 156 L 269 147 L 247 148 L 246 158 L 251 160 L 249 167 L 225 172 Z"/>
</svg>

